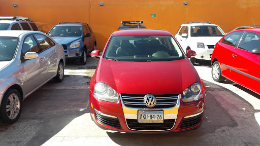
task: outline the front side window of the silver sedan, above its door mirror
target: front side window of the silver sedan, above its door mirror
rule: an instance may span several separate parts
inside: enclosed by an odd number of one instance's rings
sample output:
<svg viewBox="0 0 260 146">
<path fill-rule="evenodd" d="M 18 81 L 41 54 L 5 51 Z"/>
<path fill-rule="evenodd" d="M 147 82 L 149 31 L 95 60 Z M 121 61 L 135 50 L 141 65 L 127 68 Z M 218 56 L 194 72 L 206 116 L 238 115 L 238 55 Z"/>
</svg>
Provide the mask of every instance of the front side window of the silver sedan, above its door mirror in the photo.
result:
<svg viewBox="0 0 260 146">
<path fill-rule="evenodd" d="M 25 54 L 27 52 L 36 52 L 38 53 L 40 51 L 37 42 L 35 41 L 34 36 L 29 35 L 25 38 L 24 43 L 22 45 L 22 53 L 23 56 L 25 56 Z"/>
</svg>

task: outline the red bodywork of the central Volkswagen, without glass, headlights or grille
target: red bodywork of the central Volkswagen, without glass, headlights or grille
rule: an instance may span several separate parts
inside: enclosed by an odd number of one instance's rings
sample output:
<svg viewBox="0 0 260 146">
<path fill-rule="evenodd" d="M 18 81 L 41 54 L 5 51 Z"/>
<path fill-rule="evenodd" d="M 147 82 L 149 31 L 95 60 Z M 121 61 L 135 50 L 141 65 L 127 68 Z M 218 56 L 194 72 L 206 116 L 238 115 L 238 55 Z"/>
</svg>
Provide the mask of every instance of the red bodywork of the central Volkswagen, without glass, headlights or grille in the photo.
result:
<svg viewBox="0 0 260 146">
<path fill-rule="evenodd" d="M 150 30 L 150 29 L 131 29 L 118 30 L 112 36 L 118 35 L 171 35 L 168 31 Z M 174 61 L 154 61 L 154 62 L 127 62 L 104 59 L 103 55 L 111 39 L 109 38 L 103 54 L 101 55 L 95 74 L 91 78 L 89 87 L 90 114 L 93 121 L 105 129 L 124 131 L 124 132 L 176 132 L 196 128 L 202 124 L 205 107 L 206 91 L 201 78 L 196 69 L 192 66 L 188 58 Z M 174 36 L 173 36 L 174 38 Z M 174 38 L 175 39 L 175 38 Z M 183 51 L 183 50 L 182 50 Z M 184 53 L 183 53 L 184 54 Z M 203 98 L 196 102 L 184 103 L 180 100 L 178 116 L 174 127 L 165 131 L 138 131 L 127 127 L 124 117 L 122 103 L 119 97 L 117 102 L 107 102 L 96 99 L 93 96 L 94 85 L 97 82 L 103 82 L 117 91 L 118 94 L 179 94 L 195 82 L 202 85 Z M 115 116 L 121 125 L 120 128 L 112 127 L 101 123 L 95 116 L 95 111 Z M 156 109 L 155 109 L 156 110 Z M 202 113 L 202 120 L 196 125 L 186 128 L 180 128 L 184 117 Z"/>
</svg>

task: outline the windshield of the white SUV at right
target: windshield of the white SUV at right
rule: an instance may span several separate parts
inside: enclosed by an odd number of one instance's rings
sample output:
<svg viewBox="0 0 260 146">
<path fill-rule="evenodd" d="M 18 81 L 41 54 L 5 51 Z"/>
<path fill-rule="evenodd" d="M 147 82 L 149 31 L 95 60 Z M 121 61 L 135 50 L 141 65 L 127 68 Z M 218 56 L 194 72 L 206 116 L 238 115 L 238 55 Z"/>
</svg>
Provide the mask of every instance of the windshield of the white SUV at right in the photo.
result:
<svg viewBox="0 0 260 146">
<path fill-rule="evenodd" d="M 224 32 L 218 26 L 191 26 L 190 36 L 224 36 Z"/>
</svg>

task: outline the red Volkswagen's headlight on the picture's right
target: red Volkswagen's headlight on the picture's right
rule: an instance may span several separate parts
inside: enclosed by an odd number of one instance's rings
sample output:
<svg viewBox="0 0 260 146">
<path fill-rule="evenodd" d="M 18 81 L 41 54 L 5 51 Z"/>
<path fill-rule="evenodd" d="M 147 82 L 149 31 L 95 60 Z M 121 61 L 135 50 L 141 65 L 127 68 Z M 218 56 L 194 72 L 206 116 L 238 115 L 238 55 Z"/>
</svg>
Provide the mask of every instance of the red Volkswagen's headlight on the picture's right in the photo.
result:
<svg viewBox="0 0 260 146">
<path fill-rule="evenodd" d="M 201 83 L 196 82 L 186 88 L 181 94 L 182 102 L 194 102 L 203 98 L 203 87 Z"/>
</svg>

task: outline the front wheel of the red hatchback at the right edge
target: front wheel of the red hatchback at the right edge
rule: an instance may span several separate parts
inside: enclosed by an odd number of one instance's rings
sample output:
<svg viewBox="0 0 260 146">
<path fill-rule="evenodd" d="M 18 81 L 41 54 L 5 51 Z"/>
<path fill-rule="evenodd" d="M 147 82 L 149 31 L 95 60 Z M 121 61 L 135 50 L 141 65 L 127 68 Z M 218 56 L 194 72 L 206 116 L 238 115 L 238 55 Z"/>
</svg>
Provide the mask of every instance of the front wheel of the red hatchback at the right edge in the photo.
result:
<svg viewBox="0 0 260 146">
<path fill-rule="evenodd" d="M 211 75 L 214 81 L 223 82 L 225 77 L 221 75 L 221 67 L 218 61 L 215 61 L 212 65 Z"/>
</svg>

